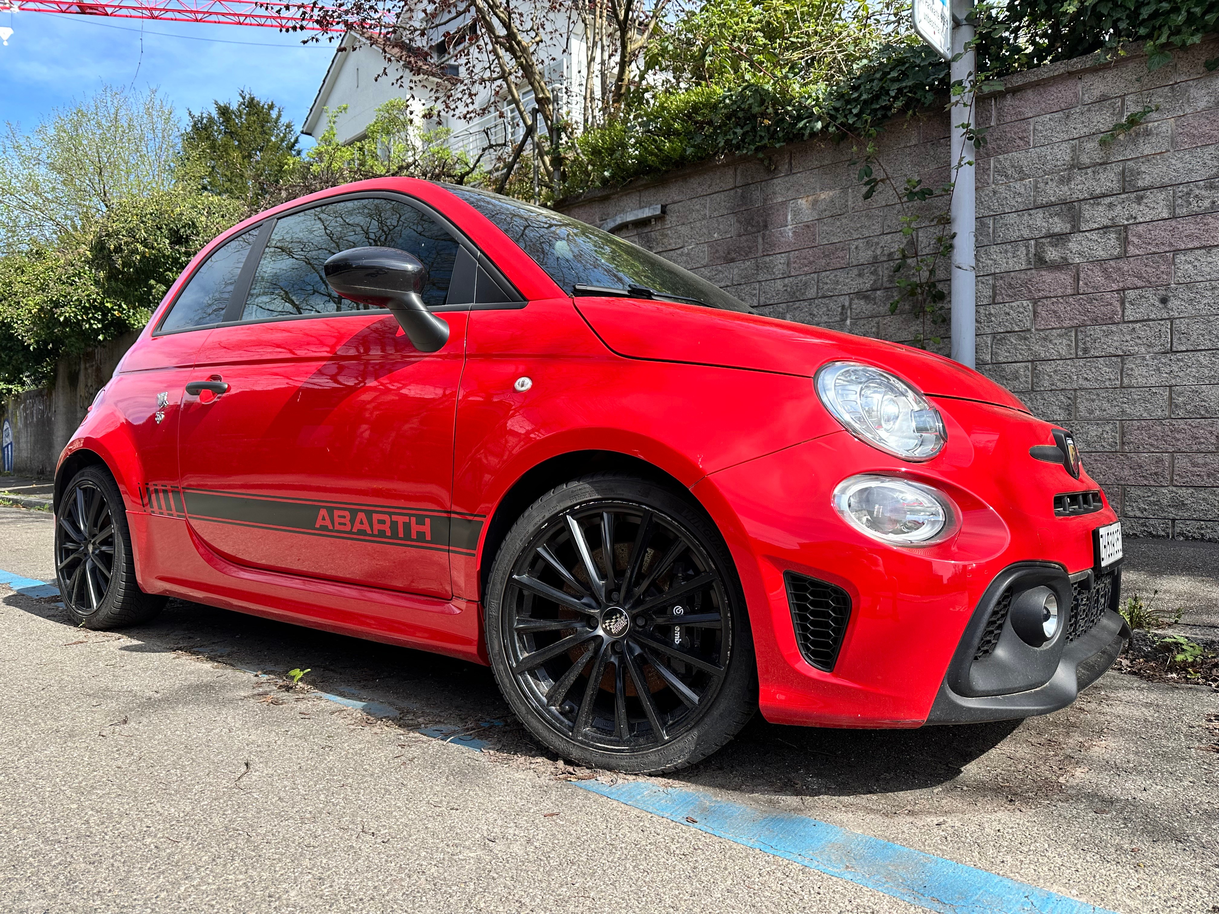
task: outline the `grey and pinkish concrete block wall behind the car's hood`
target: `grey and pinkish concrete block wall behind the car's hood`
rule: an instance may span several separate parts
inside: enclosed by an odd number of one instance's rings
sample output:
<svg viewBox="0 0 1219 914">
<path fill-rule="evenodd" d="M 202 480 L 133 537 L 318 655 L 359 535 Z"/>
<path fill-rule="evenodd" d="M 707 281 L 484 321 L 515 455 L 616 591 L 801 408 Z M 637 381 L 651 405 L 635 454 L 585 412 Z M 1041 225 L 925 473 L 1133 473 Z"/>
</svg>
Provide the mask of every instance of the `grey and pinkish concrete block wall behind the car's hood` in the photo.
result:
<svg viewBox="0 0 1219 914">
<path fill-rule="evenodd" d="M 978 367 L 1073 429 L 1135 536 L 1219 540 L 1219 56 L 1210 39 L 1148 73 L 1098 56 L 1004 79 L 979 101 Z M 1102 136 L 1154 108 L 1112 143 Z M 947 178 L 948 121 L 889 126 L 896 186 Z M 762 313 L 902 342 L 942 336 L 895 299 L 901 217 L 870 199 L 850 143 L 813 141 L 595 191 L 586 222 L 666 204 L 620 232 Z M 922 230 L 922 250 L 933 233 Z M 947 264 L 939 273 L 947 290 Z"/>
</svg>

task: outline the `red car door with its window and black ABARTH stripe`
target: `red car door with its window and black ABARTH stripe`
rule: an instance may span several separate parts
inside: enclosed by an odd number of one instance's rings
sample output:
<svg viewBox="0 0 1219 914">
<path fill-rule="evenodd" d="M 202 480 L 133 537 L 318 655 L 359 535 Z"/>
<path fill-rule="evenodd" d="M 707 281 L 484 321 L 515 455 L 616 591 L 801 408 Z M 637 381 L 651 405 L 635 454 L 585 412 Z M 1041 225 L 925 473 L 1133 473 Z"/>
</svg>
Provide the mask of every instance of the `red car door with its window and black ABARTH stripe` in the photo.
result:
<svg viewBox="0 0 1219 914">
<path fill-rule="evenodd" d="M 322 264 L 362 246 L 406 250 L 428 268 L 424 301 L 457 308 L 442 314 L 439 351 L 419 352 L 388 312 L 330 292 Z M 469 285 L 471 256 L 442 218 L 391 194 L 282 213 L 255 249 L 247 292 L 196 358 L 191 381 L 205 386 L 184 395 L 191 529 L 239 564 L 451 596 L 467 313 L 450 286 Z"/>
</svg>

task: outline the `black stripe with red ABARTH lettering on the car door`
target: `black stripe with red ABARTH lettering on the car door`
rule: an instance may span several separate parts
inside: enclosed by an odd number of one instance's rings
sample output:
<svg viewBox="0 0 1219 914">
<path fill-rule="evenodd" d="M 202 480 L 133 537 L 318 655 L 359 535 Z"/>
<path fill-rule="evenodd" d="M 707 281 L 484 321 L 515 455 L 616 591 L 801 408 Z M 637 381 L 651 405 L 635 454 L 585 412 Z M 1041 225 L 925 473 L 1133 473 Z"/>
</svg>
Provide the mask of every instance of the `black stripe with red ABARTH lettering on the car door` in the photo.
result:
<svg viewBox="0 0 1219 914">
<path fill-rule="evenodd" d="M 251 498 L 199 489 L 183 491 L 187 513 L 211 520 L 256 524 L 321 536 L 338 536 L 366 542 L 447 548 L 449 518 L 385 506 L 366 508 L 345 503 L 311 503 L 274 498 Z"/>
</svg>

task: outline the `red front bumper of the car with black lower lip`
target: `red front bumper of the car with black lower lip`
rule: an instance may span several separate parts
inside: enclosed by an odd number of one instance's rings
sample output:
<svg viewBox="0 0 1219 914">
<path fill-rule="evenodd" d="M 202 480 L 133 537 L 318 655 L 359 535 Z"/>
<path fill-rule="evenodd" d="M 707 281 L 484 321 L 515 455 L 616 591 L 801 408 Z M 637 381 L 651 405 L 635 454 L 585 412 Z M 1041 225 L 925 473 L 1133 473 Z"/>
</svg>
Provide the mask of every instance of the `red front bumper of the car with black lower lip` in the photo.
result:
<svg viewBox="0 0 1219 914">
<path fill-rule="evenodd" d="M 1092 530 L 1115 514 L 1104 505 L 1090 514 L 1054 515 L 1056 494 L 1096 484 L 1029 456 L 1031 445 L 1050 439 L 1047 423 L 980 403 L 941 411 L 948 446 L 928 463 L 890 458 L 844 431 L 730 467 L 692 487 L 740 573 L 759 707 L 772 723 L 917 728 L 1047 713 L 1069 703 L 1120 650 L 1125 629 L 1111 612 L 1114 589 L 1086 635 L 1041 652 L 1040 673 L 956 687 L 958 652 L 996 580 L 1014 567 L 1051 569 L 1056 586 L 1065 589 L 1059 604 L 1070 604 L 1072 579 L 1087 575 L 1093 563 Z M 959 533 L 922 548 L 864 537 L 831 506 L 834 487 L 862 473 L 904 475 L 946 491 L 961 513 Z M 792 581 L 800 579 L 806 603 L 816 598 L 823 618 L 845 618 L 836 651 L 809 652 L 807 631 L 805 642 L 797 637 L 812 618 L 792 612 Z M 809 580 L 829 586 L 812 593 Z"/>
</svg>

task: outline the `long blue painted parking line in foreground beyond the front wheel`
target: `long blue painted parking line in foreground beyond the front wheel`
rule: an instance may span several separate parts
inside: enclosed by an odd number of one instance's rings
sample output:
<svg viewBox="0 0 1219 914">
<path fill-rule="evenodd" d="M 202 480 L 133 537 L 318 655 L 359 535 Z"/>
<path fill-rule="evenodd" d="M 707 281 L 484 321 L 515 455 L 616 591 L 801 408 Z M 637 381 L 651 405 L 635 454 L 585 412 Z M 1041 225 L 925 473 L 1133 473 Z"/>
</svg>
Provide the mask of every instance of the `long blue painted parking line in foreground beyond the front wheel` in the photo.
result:
<svg viewBox="0 0 1219 914">
<path fill-rule="evenodd" d="M 1047 892 L 942 857 L 840 829 L 792 813 L 761 810 L 694 790 L 649 781 L 574 781 L 575 786 L 901 898 L 951 914 L 1113 914 L 1106 908 Z"/>
</svg>

